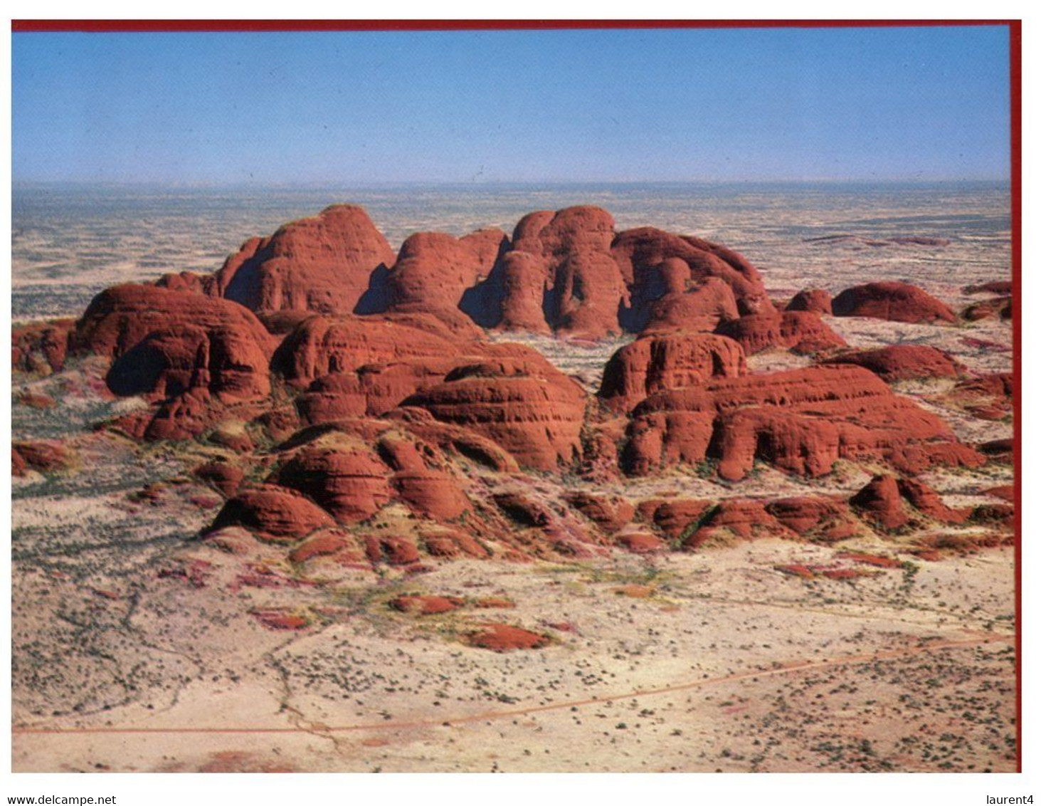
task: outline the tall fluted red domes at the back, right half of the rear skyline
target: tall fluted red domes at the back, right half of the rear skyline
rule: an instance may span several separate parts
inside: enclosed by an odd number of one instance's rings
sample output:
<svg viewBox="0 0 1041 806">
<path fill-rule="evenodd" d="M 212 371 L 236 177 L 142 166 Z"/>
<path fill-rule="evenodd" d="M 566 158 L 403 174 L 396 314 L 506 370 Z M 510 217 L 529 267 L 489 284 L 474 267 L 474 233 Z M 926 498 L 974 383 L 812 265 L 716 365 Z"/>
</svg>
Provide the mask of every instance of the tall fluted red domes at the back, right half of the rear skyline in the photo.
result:
<svg viewBox="0 0 1041 806">
<path fill-rule="evenodd" d="M 711 331 L 768 304 L 758 272 L 735 252 L 653 228 L 615 235 L 613 227 L 599 207 L 526 216 L 459 307 L 484 327 L 595 338 L 620 330 Z"/>
</svg>

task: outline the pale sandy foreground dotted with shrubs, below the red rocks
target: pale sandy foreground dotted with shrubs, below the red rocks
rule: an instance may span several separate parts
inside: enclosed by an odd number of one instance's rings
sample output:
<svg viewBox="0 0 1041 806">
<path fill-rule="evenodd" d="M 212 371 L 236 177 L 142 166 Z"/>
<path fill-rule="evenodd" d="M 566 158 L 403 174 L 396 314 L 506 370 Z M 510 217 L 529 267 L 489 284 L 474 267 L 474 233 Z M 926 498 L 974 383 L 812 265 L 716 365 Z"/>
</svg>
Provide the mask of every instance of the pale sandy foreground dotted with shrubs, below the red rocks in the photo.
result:
<svg viewBox="0 0 1041 806">
<path fill-rule="evenodd" d="M 178 554 L 213 559 L 201 547 Z M 80 670 L 41 659 L 40 686 L 17 703 L 14 767 L 1013 769 L 1011 552 L 909 561 L 853 582 L 775 570 L 845 562 L 835 554 L 762 540 L 238 594 L 221 584 L 235 573 L 228 558 L 203 588 L 150 579 L 117 586 L 118 599 L 28 575 L 16 599 L 57 605 L 69 654 L 97 658 L 107 685 L 55 715 L 62 687 L 47 675 Z M 516 606 L 406 615 L 386 604 L 402 591 Z M 275 605 L 323 618 L 272 632 L 244 613 Z M 16 641 L 52 615 L 20 615 Z M 488 620 L 552 644 L 498 654 L 459 640 Z"/>
</svg>

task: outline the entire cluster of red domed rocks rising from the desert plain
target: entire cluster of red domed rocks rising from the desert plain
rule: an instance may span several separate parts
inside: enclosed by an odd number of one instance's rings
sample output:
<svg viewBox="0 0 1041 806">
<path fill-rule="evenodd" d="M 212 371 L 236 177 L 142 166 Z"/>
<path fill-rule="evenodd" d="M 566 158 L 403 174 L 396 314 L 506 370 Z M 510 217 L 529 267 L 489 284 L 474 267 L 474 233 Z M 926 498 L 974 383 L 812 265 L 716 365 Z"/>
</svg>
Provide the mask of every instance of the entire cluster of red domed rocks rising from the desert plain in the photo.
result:
<svg viewBox="0 0 1041 806">
<path fill-rule="evenodd" d="M 948 321 L 903 283 L 844 294 L 852 302 L 840 295 L 836 312 Z M 932 348 L 834 355 L 844 343 L 820 317 L 830 304 L 807 291 L 781 311 L 740 255 L 653 228 L 616 234 L 596 207 L 531 213 L 510 238 L 420 233 L 397 259 L 358 208 L 335 207 L 249 242 L 215 275 L 110 288 L 71 336 L 26 329 L 12 355 L 49 371 L 68 342 L 110 358 L 109 388 L 151 405 L 109 427 L 195 438 L 222 458 L 193 471 L 226 499 L 214 539 L 256 551 L 252 532 L 327 571 L 411 574 L 430 557 L 583 558 L 764 536 L 833 543 L 961 523 L 966 512 L 907 478 L 880 477 L 849 502 L 721 503 L 683 498 L 665 479 L 619 478 L 678 463 L 728 485 L 757 462 L 807 477 L 840 459 L 899 474 L 982 463 L 885 382 L 964 368 Z M 540 353 L 482 327 L 641 336 L 611 357 L 588 405 Z M 745 355 L 770 348 L 833 357 L 748 375 Z M 590 376 L 583 367 L 578 377 Z M 1000 419 L 1011 387 L 1011 376 L 971 378 L 944 404 Z M 17 444 L 12 471 L 64 467 L 46 448 Z M 646 496 L 657 498 L 637 515 L 628 499 Z M 971 518 L 1002 525 L 1011 514 L 991 506 Z"/>
</svg>

